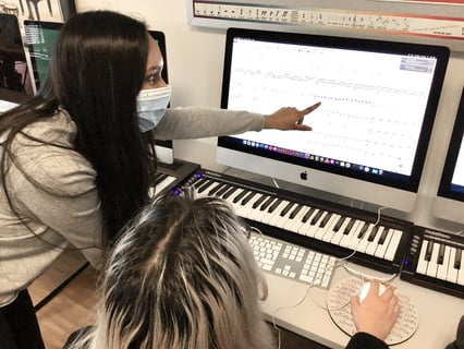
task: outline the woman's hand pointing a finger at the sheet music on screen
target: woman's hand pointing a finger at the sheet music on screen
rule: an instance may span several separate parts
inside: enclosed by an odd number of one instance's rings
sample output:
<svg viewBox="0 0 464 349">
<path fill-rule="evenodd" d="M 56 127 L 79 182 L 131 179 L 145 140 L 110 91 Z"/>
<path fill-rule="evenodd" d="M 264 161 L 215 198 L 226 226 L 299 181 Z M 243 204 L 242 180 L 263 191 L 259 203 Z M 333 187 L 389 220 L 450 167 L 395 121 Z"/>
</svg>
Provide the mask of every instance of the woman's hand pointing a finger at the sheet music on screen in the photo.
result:
<svg viewBox="0 0 464 349">
<path fill-rule="evenodd" d="M 265 129 L 310 131 L 309 125 L 303 124 L 305 116 L 320 106 L 320 101 L 306 109 L 281 108 L 266 116 Z"/>
</svg>

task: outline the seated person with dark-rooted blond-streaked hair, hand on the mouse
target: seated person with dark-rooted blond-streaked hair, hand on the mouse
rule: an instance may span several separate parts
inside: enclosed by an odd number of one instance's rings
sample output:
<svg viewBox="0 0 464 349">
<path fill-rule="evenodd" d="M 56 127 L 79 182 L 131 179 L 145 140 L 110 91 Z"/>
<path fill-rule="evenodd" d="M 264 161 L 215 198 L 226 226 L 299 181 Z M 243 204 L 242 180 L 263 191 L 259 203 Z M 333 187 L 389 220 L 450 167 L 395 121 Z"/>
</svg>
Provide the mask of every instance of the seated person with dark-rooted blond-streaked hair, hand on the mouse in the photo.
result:
<svg viewBox="0 0 464 349">
<path fill-rule="evenodd" d="M 277 348 L 258 303 L 267 286 L 248 231 L 220 198 L 158 196 L 107 258 L 96 324 L 65 348 Z M 359 332 L 347 348 L 387 348 L 398 299 L 376 287 L 362 304 L 352 300 Z"/>
</svg>

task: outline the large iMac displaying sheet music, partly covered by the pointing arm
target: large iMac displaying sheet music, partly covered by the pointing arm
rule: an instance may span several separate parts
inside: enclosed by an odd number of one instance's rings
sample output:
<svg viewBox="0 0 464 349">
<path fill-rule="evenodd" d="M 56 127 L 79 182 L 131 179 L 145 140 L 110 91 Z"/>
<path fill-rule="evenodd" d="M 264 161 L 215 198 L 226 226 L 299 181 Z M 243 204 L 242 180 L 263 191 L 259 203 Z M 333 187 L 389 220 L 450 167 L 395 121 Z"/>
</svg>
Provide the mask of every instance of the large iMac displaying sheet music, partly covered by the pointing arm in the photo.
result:
<svg viewBox="0 0 464 349">
<path fill-rule="evenodd" d="M 218 161 L 404 212 L 414 206 L 449 49 L 230 28 L 221 107 L 321 106 L 310 132 L 218 139 Z"/>
</svg>

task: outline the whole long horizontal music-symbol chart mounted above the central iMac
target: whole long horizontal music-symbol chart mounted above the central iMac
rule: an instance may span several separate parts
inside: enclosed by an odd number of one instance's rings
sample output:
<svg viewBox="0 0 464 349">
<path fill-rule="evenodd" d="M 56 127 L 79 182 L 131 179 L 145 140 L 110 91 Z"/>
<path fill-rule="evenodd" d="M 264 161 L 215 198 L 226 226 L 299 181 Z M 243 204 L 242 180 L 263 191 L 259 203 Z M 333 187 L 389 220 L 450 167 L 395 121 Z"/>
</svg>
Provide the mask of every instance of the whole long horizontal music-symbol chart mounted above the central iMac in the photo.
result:
<svg viewBox="0 0 464 349">
<path fill-rule="evenodd" d="M 276 1 L 191 0 L 190 23 L 212 27 L 255 27 L 286 31 L 342 32 L 350 35 L 419 37 L 429 43 L 443 39 L 464 50 L 463 0 L 304 0 Z M 359 10 L 362 9 L 362 10 Z"/>
</svg>

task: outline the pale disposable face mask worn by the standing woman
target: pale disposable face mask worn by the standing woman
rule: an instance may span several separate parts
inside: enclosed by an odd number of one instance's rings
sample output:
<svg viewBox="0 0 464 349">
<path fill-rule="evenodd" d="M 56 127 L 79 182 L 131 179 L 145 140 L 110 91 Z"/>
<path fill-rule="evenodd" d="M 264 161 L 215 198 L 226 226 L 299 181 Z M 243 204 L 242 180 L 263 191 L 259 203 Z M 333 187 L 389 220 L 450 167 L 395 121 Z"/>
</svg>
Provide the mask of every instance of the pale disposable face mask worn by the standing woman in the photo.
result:
<svg viewBox="0 0 464 349">
<path fill-rule="evenodd" d="M 171 86 L 142 89 L 137 96 L 137 118 L 141 132 L 158 124 L 171 99 Z"/>
</svg>

